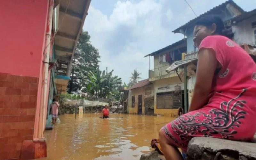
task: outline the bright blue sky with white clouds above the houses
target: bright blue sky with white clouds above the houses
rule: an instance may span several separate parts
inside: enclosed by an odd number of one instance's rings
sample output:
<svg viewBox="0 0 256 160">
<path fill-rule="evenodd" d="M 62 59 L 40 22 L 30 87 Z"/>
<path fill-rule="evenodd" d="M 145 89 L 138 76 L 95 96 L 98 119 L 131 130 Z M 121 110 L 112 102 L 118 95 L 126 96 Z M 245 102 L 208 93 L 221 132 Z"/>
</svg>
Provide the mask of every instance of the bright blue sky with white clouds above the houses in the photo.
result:
<svg viewBox="0 0 256 160">
<path fill-rule="evenodd" d="M 245 11 L 255 8 L 255 0 L 234 0 Z M 225 0 L 187 0 L 197 15 Z M 149 58 L 157 51 L 183 38 L 172 30 L 195 18 L 184 0 L 92 0 L 83 29 L 100 52 L 100 69 L 128 83 L 137 68 L 148 78 Z M 151 69 L 153 59 L 150 59 Z"/>
</svg>

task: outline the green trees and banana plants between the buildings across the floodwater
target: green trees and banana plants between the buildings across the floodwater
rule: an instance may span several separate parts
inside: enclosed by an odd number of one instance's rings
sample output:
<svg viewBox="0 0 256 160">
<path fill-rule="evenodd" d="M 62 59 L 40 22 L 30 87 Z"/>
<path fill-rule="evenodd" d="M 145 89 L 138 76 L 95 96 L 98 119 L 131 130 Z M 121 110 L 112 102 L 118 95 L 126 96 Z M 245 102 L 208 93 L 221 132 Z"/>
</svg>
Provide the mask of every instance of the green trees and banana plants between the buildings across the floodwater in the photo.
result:
<svg viewBox="0 0 256 160">
<path fill-rule="evenodd" d="M 113 76 L 113 70 L 99 70 L 100 55 L 98 50 L 92 46 L 90 36 L 87 31 L 83 31 L 77 42 L 76 52 L 72 61 L 72 70 L 67 92 L 87 92 L 91 96 L 98 98 L 116 98 L 119 90 L 124 87 L 122 80 L 118 76 Z M 64 96 L 64 95 L 63 95 Z M 79 99 L 85 98 L 84 95 L 72 96 L 65 95 L 63 98 Z"/>
</svg>

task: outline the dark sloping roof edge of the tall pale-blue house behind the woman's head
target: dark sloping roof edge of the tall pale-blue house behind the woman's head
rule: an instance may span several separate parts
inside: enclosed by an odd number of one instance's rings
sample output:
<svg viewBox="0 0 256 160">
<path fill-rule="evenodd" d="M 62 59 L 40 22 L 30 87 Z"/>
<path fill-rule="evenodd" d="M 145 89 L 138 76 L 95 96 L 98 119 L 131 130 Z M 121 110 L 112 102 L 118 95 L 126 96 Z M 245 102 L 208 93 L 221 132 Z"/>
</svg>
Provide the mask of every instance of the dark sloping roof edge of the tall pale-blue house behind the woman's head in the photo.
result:
<svg viewBox="0 0 256 160">
<path fill-rule="evenodd" d="M 245 12 L 245 11 L 244 11 L 240 6 L 238 6 L 233 0 L 228 0 L 228 1 L 222 3 L 222 4 L 218 5 L 218 6 L 213 7 L 213 8 L 210 9 L 209 11 L 204 12 L 203 14 L 200 14 L 199 16 L 197 16 L 196 18 L 194 18 L 194 19 L 188 21 L 187 23 L 185 23 L 184 25 L 180 26 L 179 28 L 174 29 L 172 32 L 173 32 L 173 33 L 180 33 L 180 29 L 181 29 L 181 28 L 184 28 L 184 27 L 190 25 L 190 24 L 193 23 L 195 20 L 198 20 L 199 18 L 205 16 L 206 14 L 209 14 L 209 13 L 212 12 L 213 10 L 215 10 L 215 9 L 217 9 L 217 8 L 219 8 L 219 7 L 221 7 L 222 5 L 228 4 L 228 3 L 232 3 L 239 11 L 242 12 L 242 14 Z"/>
</svg>

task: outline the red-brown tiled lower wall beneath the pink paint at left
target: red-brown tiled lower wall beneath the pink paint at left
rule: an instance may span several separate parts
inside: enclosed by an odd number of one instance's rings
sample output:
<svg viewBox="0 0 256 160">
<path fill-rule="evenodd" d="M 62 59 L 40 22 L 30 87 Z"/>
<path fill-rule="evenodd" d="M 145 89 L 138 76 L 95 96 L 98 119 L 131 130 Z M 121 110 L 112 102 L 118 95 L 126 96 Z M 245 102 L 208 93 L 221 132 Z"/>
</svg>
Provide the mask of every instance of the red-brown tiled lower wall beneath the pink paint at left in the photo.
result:
<svg viewBox="0 0 256 160">
<path fill-rule="evenodd" d="M 38 78 L 0 73 L 0 159 L 20 157 L 33 140 Z"/>
</svg>

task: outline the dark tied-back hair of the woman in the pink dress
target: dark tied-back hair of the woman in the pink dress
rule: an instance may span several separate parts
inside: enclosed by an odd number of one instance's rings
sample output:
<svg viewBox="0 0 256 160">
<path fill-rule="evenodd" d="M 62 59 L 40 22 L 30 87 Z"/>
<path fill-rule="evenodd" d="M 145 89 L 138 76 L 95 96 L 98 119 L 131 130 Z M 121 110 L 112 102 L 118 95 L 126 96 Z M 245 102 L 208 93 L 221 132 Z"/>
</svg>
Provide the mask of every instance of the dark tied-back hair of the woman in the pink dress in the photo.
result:
<svg viewBox="0 0 256 160">
<path fill-rule="evenodd" d="M 232 32 L 231 26 L 226 26 L 224 27 L 224 23 L 221 20 L 220 17 L 218 16 L 207 16 L 199 19 L 196 22 L 196 25 L 202 25 L 205 27 L 211 27 L 212 24 L 216 24 L 216 31 L 215 34 L 221 35 L 221 36 L 226 36 L 230 39 L 233 38 L 234 33 Z"/>
</svg>

